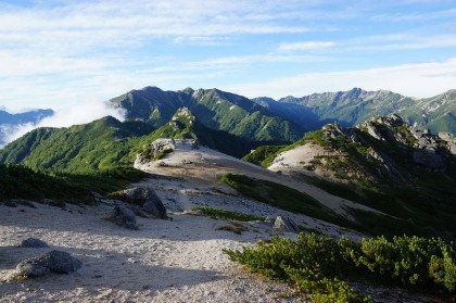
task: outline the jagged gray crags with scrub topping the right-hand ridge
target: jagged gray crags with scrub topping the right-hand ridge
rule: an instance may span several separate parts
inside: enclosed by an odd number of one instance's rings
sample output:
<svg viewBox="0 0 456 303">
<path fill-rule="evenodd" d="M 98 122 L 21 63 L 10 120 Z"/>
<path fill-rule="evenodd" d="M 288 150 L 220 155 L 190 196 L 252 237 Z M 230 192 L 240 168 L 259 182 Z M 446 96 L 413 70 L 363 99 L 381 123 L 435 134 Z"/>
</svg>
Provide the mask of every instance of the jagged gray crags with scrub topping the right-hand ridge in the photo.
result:
<svg viewBox="0 0 456 303">
<path fill-rule="evenodd" d="M 440 136 L 435 136 L 429 130 L 417 129 L 397 114 L 371 117 L 357 124 L 356 128 L 342 127 L 339 123 L 329 124 L 322 127 L 317 137 L 317 141 L 320 140 L 319 143 L 327 149 L 327 156 L 319 156 L 322 165 L 339 173 L 339 177 L 343 179 L 357 175 L 357 178 L 379 182 L 387 176 L 395 182 L 407 184 L 407 174 L 401 172 L 403 169 L 397 166 L 397 161 L 402 161 L 395 159 L 398 153 L 426 171 L 436 173 L 445 172 L 447 160 L 456 155 L 453 135 L 441 132 Z M 395 149 L 400 151 L 393 151 Z M 354 160 L 356 154 L 365 157 L 366 163 L 362 164 L 362 159 Z M 342 163 L 338 166 L 331 157 L 338 157 L 335 162 Z M 311 162 L 309 164 L 316 165 L 318 161 Z M 377 174 L 365 169 L 364 166 L 368 163 Z M 338 168 L 342 172 L 337 172 Z"/>
</svg>

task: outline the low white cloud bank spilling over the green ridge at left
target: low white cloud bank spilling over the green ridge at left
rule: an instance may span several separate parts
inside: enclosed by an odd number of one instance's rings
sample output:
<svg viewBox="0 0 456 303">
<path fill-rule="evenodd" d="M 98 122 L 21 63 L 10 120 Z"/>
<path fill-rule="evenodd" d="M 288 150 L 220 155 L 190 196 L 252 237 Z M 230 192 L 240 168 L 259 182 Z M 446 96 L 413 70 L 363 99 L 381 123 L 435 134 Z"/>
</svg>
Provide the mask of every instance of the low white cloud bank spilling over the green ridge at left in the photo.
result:
<svg viewBox="0 0 456 303">
<path fill-rule="evenodd" d="M 86 124 L 107 115 L 121 121 L 124 119 L 122 110 L 110 106 L 105 101 L 90 100 L 89 98 L 89 100 L 56 110 L 54 115 L 43 118 L 36 125 L 33 123 L 0 125 L 0 135 L 3 135 L 3 142 L 9 143 L 37 127 L 69 127 L 72 125 Z"/>
</svg>

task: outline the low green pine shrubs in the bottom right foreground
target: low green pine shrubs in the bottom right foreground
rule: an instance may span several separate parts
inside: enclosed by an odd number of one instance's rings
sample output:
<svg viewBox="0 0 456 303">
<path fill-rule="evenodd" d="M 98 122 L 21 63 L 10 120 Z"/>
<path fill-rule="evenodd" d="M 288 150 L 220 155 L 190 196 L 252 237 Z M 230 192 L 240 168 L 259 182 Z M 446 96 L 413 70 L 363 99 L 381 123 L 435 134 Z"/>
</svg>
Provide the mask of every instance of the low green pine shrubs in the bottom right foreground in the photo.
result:
<svg viewBox="0 0 456 303">
<path fill-rule="evenodd" d="M 436 238 L 379 237 L 355 243 L 300 233 L 296 241 L 275 237 L 257 248 L 224 252 L 267 278 L 292 283 L 313 302 L 373 302 L 346 281 L 455 292 L 455 245 Z"/>
</svg>

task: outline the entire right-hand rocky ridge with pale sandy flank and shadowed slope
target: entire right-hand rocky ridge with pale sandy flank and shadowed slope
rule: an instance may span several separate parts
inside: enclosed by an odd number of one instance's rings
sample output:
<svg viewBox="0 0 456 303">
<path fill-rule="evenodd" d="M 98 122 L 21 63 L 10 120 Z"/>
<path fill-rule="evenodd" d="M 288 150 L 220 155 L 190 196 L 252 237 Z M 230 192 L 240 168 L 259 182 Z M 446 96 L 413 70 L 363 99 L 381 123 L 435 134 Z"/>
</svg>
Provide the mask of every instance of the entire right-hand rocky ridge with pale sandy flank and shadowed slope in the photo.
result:
<svg viewBox="0 0 456 303">
<path fill-rule="evenodd" d="M 456 235 L 454 137 L 439 136 L 398 115 L 375 116 L 355 128 L 328 124 L 271 154 L 249 159 L 268 169 L 311 181 L 332 194 L 356 201 L 426 227 L 435 236 Z M 265 161 L 266 160 L 266 161 Z M 445 219 L 443 219 L 445 217 Z"/>
</svg>

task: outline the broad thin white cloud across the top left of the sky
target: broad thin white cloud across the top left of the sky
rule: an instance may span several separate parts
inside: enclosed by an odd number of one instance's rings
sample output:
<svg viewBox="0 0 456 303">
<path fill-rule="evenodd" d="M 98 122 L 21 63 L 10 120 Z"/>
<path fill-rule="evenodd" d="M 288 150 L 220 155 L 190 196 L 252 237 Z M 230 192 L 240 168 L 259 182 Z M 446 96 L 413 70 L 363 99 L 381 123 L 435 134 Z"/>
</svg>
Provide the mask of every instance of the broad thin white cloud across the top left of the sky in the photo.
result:
<svg viewBox="0 0 456 303">
<path fill-rule="evenodd" d="M 288 5 L 275 1 L 66 2 L 54 9 L 3 10 L 0 42 L 38 51 L 75 53 L 101 46 L 128 48 L 151 37 L 306 31 L 305 27 L 274 23 L 280 16 L 268 21 L 252 17 L 284 9 Z"/>
</svg>

